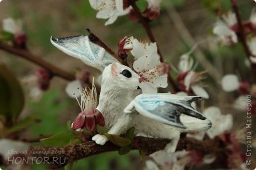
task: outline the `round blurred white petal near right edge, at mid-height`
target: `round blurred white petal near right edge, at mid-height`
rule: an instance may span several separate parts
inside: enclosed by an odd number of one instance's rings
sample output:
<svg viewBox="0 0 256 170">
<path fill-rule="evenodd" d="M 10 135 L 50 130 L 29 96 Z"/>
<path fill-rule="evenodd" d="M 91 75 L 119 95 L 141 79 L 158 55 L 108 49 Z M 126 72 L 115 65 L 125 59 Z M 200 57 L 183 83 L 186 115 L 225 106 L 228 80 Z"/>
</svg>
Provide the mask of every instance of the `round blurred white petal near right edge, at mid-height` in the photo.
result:
<svg viewBox="0 0 256 170">
<path fill-rule="evenodd" d="M 222 78 L 222 88 L 226 92 L 234 91 L 239 87 L 239 80 L 235 74 L 227 74 Z"/>
</svg>

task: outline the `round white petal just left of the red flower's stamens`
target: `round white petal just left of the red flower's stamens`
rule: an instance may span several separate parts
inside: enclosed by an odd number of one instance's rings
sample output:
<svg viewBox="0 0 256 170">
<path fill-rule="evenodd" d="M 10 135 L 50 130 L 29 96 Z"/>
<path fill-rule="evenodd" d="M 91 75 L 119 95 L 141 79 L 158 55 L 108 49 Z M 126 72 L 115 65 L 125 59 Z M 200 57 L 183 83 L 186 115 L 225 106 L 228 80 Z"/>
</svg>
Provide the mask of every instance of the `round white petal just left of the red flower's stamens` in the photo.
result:
<svg viewBox="0 0 256 170">
<path fill-rule="evenodd" d="M 81 96 L 80 92 L 82 92 L 82 90 L 83 90 L 83 86 L 81 85 L 81 82 L 79 80 L 71 81 L 65 87 L 66 94 L 71 98 L 80 97 Z"/>
</svg>

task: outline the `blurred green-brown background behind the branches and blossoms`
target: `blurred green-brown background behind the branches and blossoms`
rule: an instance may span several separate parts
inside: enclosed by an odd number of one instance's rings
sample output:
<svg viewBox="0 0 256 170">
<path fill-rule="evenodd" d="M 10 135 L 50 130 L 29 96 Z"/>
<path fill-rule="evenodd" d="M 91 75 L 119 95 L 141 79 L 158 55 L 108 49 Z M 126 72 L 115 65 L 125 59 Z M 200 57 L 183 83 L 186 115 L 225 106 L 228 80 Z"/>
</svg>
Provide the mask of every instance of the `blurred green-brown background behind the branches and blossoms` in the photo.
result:
<svg viewBox="0 0 256 170">
<path fill-rule="evenodd" d="M 204 1 L 163 0 L 159 20 L 150 23 L 165 61 L 175 67 L 179 57 L 192 48 L 193 42 L 205 40 L 212 36 L 212 27 L 217 17 L 205 7 Z M 224 9 L 230 9 L 229 0 L 222 1 Z M 177 11 L 173 11 L 169 2 Z M 141 9 L 145 9 L 147 3 L 144 0 L 139 0 L 138 5 Z M 248 18 L 252 7 L 255 5 L 253 0 L 238 0 L 242 18 Z M 181 18 L 175 17 L 177 14 Z M 142 26 L 139 23 L 132 23 L 127 16 L 119 17 L 110 26 L 104 26 L 105 20 L 96 19 L 96 11 L 91 8 L 88 0 L 2 0 L 0 2 L 0 20 L 8 17 L 23 20 L 24 30 L 28 35 L 28 49 L 32 54 L 71 73 L 74 73 L 76 68 L 90 71 L 92 68 L 55 48 L 50 43 L 51 35 L 65 37 L 87 34 L 85 29 L 90 28 L 114 51 L 118 50 L 117 44 L 125 36 L 132 35 L 137 39 L 149 40 Z M 182 24 L 182 29 L 177 29 L 179 24 Z M 243 115 L 233 109 L 230 110 L 230 103 L 233 102 L 237 94 L 225 93 L 220 88 L 220 81 L 224 74 L 236 73 L 242 80 L 252 77 L 250 69 L 244 65 L 245 55 L 241 45 L 224 47 L 214 45 L 214 43 L 206 40 L 192 54 L 194 58 L 197 57 L 196 55 L 206 57 L 219 74 L 213 75 L 211 70 L 208 70 L 206 74 L 204 82 L 207 86 L 206 90 L 210 94 L 210 100 L 205 101 L 205 106 L 218 106 L 223 113 L 233 113 L 234 128 L 245 124 L 245 114 Z M 0 60 L 20 80 L 33 74 L 39 68 L 23 58 L 4 51 L 0 51 Z M 205 70 L 203 64 L 199 63 L 197 70 Z M 172 75 L 175 76 L 176 73 L 172 72 Z M 32 137 L 65 131 L 66 122 L 72 121 L 80 112 L 76 101 L 69 98 L 64 92 L 67 83 L 61 78 L 54 77 L 50 89 L 43 94 L 39 102 L 26 98 L 26 107 L 21 116 L 37 115 L 42 119 L 42 122 L 33 124 L 21 134 L 22 136 Z M 26 85 L 23 85 L 23 88 L 26 96 L 28 96 Z M 166 89 L 166 91 L 171 90 L 170 87 Z M 132 151 L 125 156 L 111 152 L 80 160 L 74 164 L 73 170 L 139 170 L 143 166 L 143 162 L 139 161 L 137 151 Z M 44 170 L 45 168 L 44 165 L 34 165 L 33 169 Z"/>
</svg>

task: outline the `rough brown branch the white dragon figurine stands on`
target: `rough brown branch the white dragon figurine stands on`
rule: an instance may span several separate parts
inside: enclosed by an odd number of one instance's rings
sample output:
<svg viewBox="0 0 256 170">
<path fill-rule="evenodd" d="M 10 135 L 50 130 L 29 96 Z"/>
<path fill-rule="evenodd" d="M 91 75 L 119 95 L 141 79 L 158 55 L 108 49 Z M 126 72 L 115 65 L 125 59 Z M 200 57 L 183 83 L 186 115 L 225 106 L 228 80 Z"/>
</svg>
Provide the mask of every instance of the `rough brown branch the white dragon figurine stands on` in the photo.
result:
<svg viewBox="0 0 256 170">
<path fill-rule="evenodd" d="M 143 150 L 147 155 L 158 150 L 164 149 L 169 139 L 153 139 L 145 137 L 134 137 L 132 142 L 132 150 Z M 111 142 L 106 142 L 105 145 L 98 145 L 95 142 L 89 141 L 80 144 L 73 144 L 66 147 L 47 147 L 47 146 L 31 146 L 25 155 L 28 158 L 46 159 L 50 163 L 52 169 L 64 167 L 66 164 L 100 153 L 118 151 L 119 146 Z M 176 150 L 192 150 L 196 149 L 204 153 L 217 153 L 224 151 L 219 141 L 205 140 L 198 141 L 193 138 L 180 139 Z"/>
</svg>

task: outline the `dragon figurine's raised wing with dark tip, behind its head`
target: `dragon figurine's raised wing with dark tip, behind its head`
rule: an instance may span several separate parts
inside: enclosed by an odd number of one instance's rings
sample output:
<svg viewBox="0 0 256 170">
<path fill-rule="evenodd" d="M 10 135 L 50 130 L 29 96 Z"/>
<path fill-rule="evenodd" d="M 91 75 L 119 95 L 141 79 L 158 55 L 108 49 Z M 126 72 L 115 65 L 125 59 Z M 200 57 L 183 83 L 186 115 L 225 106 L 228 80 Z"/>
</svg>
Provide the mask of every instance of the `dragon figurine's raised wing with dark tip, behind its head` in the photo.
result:
<svg viewBox="0 0 256 170">
<path fill-rule="evenodd" d="M 97 68 L 101 72 L 109 64 L 118 62 L 104 48 L 92 43 L 85 35 L 64 38 L 52 36 L 51 43 L 65 54 L 81 59 L 85 64 Z"/>
</svg>

